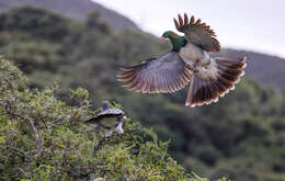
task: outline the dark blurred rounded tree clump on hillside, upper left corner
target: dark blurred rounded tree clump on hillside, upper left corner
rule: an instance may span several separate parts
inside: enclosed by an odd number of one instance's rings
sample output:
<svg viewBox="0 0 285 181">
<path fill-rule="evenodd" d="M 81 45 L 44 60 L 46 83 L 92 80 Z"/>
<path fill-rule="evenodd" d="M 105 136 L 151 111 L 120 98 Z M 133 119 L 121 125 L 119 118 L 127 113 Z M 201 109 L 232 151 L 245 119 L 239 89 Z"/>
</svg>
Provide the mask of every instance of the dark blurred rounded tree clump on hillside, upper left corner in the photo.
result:
<svg viewBox="0 0 285 181">
<path fill-rule="evenodd" d="M 49 39 L 62 39 L 68 33 L 68 20 L 46 10 L 14 8 L 0 15 L 1 31 L 23 31 Z"/>
</svg>

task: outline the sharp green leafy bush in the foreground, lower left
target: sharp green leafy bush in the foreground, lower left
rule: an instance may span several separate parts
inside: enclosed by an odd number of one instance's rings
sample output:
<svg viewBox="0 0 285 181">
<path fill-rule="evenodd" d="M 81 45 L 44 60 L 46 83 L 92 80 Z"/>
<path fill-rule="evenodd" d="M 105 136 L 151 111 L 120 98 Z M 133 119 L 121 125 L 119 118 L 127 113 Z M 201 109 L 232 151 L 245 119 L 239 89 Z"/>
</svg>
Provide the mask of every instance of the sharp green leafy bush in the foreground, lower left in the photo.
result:
<svg viewBox="0 0 285 181">
<path fill-rule="evenodd" d="M 204 180 L 186 176 L 168 155 L 169 143 L 132 120 L 94 151 L 99 135 L 83 124 L 94 114 L 86 90 L 71 90 L 78 106 L 69 106 L 56 98 L 58 87 L 29 89 L 8 60 L 0 60 L 0 180 Z"/>
</svg>

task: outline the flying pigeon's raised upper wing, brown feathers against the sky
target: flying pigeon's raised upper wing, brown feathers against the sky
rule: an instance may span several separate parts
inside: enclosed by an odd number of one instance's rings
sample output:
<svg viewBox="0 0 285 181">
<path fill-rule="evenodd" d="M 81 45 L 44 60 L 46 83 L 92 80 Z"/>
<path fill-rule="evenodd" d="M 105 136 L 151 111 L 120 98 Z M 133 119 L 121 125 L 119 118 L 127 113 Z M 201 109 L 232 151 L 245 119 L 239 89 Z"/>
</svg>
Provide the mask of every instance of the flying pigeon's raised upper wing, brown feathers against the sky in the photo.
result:
<svg viewBox="0 0 285 181">
<path fill-rule="evenodd" d="M 184 14 L 184 21 L 179 14 L 178 20 L 174 19 L 176 30 L 184 33 L 189 42 L 201 46 L 203 49 L 209 53 L 217 53 L 220 50 L 219 42 L 216 39 L 216 34 L 210 26 L 202 23 L 198 19 L 195 21 L 192 15 L 189 20 L 187 14 Z"/>
</svg>

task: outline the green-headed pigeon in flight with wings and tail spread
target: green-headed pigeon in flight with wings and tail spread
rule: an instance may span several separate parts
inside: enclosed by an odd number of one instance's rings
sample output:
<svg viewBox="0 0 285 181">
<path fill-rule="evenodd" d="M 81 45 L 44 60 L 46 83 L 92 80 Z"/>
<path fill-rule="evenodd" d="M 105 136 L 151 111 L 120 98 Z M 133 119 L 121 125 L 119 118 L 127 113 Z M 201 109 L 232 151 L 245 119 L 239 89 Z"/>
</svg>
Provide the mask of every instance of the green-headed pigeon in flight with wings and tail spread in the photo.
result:
<svg viewBox="0 0 285 181">
<path fill-rule="evenodd" d="M 179 21 L 178 21 L 179 20 Z M 142 93 L 175 92 L 190 83 L 185 105 L 195 106 L 217 102 L 244 75 L 246 57 L 212 57 L 220 50 L 215 32 L 198 19 L 179 14 L 174 24 L 180 36 L 167 31 L 161 39 L 169 38 L 172 49 L 159 57 L 149 58 L 137 66 L 122 67 L 117 75 L 123 87 Z"/>
</svg>

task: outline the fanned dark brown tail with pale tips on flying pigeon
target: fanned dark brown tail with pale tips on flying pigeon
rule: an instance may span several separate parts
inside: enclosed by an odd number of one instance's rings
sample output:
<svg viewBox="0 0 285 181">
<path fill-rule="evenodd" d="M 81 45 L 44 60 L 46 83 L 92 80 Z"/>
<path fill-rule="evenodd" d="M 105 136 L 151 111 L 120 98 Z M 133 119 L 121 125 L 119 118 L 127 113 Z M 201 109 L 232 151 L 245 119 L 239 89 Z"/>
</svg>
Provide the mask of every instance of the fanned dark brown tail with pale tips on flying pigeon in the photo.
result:
<svg viewBox="0 0 285 181">
<path fill-rule="evenodd" d="M 185 105 L 193 108 L 217 102 L 219 97 L 224 97 L 229 91 L 235 90 L 236 83 L 238 83 L 240 78 L 244 75 L 243 69 L 247 66 L 246 57 L 218 57 L 213 60 L 217 68 L 215 78 L 205 78 L 195 73 L 189 89 Z"/>
</svg>

